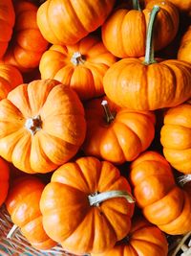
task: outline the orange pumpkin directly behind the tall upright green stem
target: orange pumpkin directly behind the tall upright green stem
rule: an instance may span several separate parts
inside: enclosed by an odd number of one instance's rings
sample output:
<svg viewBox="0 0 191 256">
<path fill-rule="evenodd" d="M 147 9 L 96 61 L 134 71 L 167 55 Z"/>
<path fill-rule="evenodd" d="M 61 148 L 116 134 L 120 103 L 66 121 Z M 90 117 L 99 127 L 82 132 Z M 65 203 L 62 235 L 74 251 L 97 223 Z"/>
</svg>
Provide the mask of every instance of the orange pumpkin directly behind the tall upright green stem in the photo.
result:
<svg viewBox="0 0 191 256">
<path fill-rule="evenodd" d="M 106 48 L 118 58 L 142 57 L 150 12 L 154 5 L 160 7 L 156 19 L 154 48 L 167 46 L 179 29 L 179 12 L 168 1 L 153 1 L 142 11 L 117 9 L 102 26 L 101 35 Z"/>
</svg>

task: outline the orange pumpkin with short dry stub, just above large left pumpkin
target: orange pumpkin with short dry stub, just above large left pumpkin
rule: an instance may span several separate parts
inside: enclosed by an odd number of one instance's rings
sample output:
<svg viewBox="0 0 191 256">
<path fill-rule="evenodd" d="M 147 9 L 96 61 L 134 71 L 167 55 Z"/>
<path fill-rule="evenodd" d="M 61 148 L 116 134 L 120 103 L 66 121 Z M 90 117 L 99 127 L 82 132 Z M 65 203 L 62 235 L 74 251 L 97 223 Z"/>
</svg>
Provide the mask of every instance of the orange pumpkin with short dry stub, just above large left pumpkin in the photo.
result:
<svg viewBox="0 0 191 256">
<path fill-rule="evenodd" d="M 88 35 L 74 45 L 53 45 L 39 64 L 42 79 L 70 85 L 81 100 L 104 94 L 103 76 L 117 61 L 98 37 Z"/>
</svg>

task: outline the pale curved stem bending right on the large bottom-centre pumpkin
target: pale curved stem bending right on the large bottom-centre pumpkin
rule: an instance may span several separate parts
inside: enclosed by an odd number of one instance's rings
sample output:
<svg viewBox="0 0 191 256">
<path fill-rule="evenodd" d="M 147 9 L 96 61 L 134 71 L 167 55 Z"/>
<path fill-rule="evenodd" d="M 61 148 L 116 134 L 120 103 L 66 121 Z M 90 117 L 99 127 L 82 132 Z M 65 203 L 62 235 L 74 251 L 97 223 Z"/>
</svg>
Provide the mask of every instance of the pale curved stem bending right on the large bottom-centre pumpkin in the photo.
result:
<svg viewBox="0 0 191 256">
<path fill-rule="evenodd" d="M 126 198 L 128 202 L 133 203 L 135 199 L 126 191 L 112 190 L 89 195 L 88 199 L 91 206 L 99 206 L 99 203 L 111 198 Z"/>
</svg>

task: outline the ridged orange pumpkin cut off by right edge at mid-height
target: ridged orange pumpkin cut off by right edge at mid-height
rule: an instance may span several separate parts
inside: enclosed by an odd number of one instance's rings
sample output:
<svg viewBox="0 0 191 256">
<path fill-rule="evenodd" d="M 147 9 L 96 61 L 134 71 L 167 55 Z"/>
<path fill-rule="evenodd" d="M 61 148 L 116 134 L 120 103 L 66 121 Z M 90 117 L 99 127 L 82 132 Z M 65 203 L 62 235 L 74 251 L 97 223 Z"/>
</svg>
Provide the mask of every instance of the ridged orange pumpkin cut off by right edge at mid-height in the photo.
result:
<svg viewBox="0 0 191 256">
<path fill-rule="evenodd" d="M 166 160 L 183 174 L 191 174 L 191 105 L 168 109 L 160 130 Z"/>
</svg>

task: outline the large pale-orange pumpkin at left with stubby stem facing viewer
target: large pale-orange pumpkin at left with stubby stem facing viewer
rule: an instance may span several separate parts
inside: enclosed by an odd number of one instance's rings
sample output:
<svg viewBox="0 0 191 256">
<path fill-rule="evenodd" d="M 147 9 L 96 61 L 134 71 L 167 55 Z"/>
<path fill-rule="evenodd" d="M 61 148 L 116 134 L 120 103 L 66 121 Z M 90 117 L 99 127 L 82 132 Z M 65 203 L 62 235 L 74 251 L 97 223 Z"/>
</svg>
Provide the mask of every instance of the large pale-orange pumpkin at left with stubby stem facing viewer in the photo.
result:
<svg viewBox="0 0 191 256">
<path fill-rule="evenodd" d="M 53 171 L 74 156 L 85 132 L 83 105 L 59 81 L 20 84 L 0 102 L 0 155 L 21 171 Z"/>
</svg>

